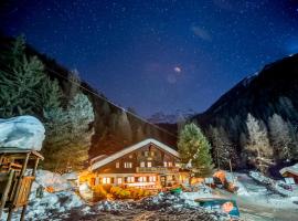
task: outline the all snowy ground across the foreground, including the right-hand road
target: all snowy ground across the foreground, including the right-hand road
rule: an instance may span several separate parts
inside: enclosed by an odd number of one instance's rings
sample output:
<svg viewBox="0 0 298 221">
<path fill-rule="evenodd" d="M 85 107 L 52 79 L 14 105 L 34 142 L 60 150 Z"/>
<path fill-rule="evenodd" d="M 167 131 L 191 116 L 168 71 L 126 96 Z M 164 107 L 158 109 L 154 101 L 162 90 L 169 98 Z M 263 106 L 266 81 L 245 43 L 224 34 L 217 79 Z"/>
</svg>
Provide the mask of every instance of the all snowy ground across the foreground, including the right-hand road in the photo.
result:
<svg viewBox="0 0 298 221">
<path fill-rule="evenodd" d="M 140 201 L 106 200 L 92 206 L 74 191 L 67 181 L 70 175 L 61 176 L 45 170 L 38 170 L 36 175 L 25 214 L 26 220 L 227 220 L 225 214 L 202 209 L 194 201 L 198 198 L 210 197 L 235 199 L 244 220 L 270 220 L 276 215 L 292 220 L 292 215 L 298 215 L 298 204 L 294 203 L 298 201 L 298 196 L 274 194 L 246 173 L 233 173 L 240 187 L 236 194 L 199 186 L 196 192 L 159 193 Z M 42 198 L 36 198 L 36 189 L 40 186 L 51 186 L 55 192 L 44 191 Z M 18 220 L 19 215 L 20 211 L 13 214 L 13 220 Z M 6 213 L 2 219 L 4 218 Z"/>
</svg>

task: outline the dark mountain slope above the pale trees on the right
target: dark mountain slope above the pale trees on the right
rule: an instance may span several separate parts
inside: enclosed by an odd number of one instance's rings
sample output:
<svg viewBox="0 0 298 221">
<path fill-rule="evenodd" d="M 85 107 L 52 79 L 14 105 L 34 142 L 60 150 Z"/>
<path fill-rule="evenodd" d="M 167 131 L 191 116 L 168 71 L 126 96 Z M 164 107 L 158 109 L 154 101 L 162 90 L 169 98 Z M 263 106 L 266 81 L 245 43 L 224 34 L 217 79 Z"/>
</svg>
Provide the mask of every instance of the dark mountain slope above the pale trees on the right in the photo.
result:
<svg viewBox="0 0 298 221">
<path fill-rule="evenodd" d="M 267 128 L 269 117 L 278 114 L 296 131 L 297 109 L 298 54 L 295 54 L 268 64 L 259 73 L 244 78 L 207 110 L 193 116 L 191 120 L 198 122 L 206 135 L 211 126 L 223 127 L 237 152 L 242 154 L 243 137 L 247 138 L 248 113 L 262 120 Z M 295 148 L 297 149 L 297 146 Z"/>
</svg>

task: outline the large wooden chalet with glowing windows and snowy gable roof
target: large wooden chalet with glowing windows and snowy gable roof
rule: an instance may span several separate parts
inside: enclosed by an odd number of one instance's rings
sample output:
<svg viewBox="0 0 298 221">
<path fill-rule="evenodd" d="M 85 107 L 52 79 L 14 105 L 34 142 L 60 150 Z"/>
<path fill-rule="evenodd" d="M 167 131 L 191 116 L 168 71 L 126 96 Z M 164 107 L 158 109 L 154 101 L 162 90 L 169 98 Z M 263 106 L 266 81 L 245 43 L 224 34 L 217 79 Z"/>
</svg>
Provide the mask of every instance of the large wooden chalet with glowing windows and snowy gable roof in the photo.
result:
<svg viewBox="0 0 298 221">
<path fill-rule="evenodd" d="M 177 150 L 156 139 L 146 139 L 110 156 L 94 158 L 88 168 L 88 185 L 161 189 L 180 182 L 179 168 Z"/>
</svg>

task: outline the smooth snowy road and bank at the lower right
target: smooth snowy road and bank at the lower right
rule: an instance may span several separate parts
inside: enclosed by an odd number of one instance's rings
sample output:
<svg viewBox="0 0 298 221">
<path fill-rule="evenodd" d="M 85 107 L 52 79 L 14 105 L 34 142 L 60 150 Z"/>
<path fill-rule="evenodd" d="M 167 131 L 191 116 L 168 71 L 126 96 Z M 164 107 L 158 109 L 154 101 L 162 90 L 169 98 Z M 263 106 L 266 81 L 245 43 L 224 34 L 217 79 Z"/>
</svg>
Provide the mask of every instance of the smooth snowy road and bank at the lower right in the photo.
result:
<svg viewBox="0 0 298 221">
<path fill-rule="evenodd" d="M 237 193 L 219 190 L 219 194 L 236 200 L 244 220 L 287 220 L 297 221 L 298 191 L 291 197 L 283 197 L 274 193 L 266 186 L 256 182 L 247 173 L 234 172 L 236 185 L 240 187 Z"/>
</svg>

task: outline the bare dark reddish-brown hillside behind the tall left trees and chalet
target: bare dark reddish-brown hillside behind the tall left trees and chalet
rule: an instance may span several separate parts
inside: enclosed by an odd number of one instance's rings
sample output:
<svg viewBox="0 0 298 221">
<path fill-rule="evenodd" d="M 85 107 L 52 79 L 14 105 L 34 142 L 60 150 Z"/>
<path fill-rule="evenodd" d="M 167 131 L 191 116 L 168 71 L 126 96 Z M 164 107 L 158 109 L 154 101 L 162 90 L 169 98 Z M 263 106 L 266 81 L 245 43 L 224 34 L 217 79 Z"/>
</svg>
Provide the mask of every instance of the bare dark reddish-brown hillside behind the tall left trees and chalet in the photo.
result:
<svg viewBox="0 0 298 221">
<path fill-rule="evenodd" d="M 0 50 L 2 52 L 7 51 L 11 46 L 12 40 L 12 38 L 0 34 Z M 63 103 L 66 105 L 70 102 L 72 71 L 45 54 L 41 54 L 29 44 L 25 52 L 28 55 L 38 55 L 45 66 L 44 72 L 52 80 L 58 81 L 63 91 Z M 89 97 L 95 113 L 93 125 L 95 134 L 92 137 L 91 158 L 102 154 L 109 155 L 149 137 L 175 146 L 175 135 L 143 120 L 134 110 L 126 112 L 123 107 L 114 105 L 103 93 L 93 88 L 87 82 L 81 80 L 79 84 L 79 90 Z M 42 113 L 35 113 L 35 115 L 42 118 Z M 129 128 L 129 135 L 126 137 L 123 133 L 124 127 Z"/>
</svg>

